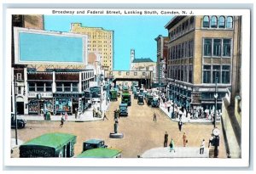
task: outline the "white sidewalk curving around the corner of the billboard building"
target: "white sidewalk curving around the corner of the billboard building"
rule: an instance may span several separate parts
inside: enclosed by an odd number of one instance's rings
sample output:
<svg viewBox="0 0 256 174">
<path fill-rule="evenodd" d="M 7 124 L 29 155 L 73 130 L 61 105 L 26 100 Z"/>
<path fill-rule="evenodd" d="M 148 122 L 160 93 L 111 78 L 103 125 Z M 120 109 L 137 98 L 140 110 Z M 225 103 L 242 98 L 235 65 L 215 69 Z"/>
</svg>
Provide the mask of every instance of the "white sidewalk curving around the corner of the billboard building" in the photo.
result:
<svg viewBox="0 0 256 174">
<path fill-rule="evenodd" d="M 106 92 L 104 92 L 106 93 Z M 106 104 L 106 98 L 102 99 L 102 117 L 93 117 L 92 109 L 93 108 L 100 108 L 100 104 L 94 104 L 91 106 L 90 109 L 86 109 L 83 114 L 78 115 L 78 118 L 75 118 L 75 115 L 68 115 L 67 121 L 73 122 L 85 122 L 85 121 L 102 121 L 103 115 L 108 110 L 110 102 Z M 44 121 L 44 116 L 41 115 L 20 115 L 23 116 L 26 121 Z M 61 121 L 61 115 L 51 115 L 50 120 L 46 121 Z"/>
</svg>

